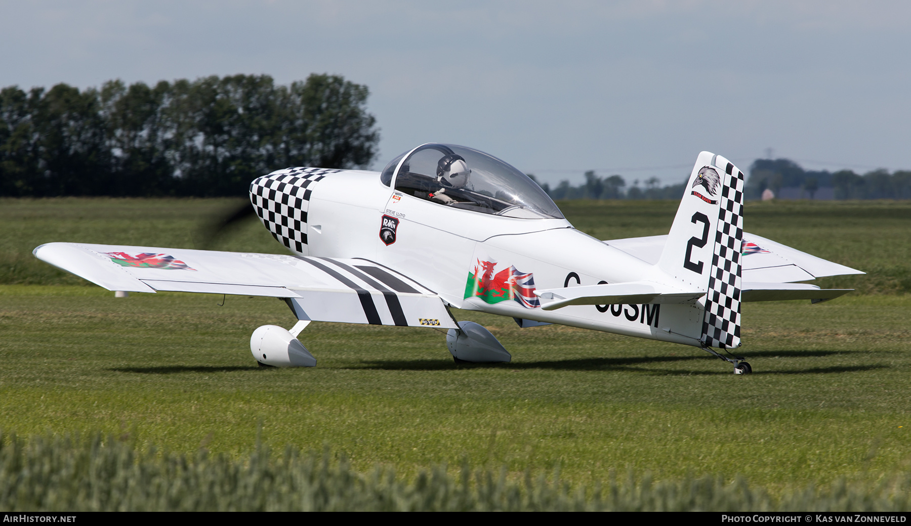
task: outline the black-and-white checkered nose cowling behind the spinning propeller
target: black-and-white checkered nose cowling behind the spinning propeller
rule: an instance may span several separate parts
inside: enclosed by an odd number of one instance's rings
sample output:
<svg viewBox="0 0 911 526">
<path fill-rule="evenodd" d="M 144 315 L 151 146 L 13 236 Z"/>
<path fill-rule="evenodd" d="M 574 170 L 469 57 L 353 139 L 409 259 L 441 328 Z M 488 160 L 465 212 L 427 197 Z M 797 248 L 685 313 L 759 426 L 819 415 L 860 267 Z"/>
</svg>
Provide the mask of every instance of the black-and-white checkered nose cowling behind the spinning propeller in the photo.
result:
<svg viewBox="0 0 911 526">
<path fill-rule="evenodd" d="M 273 238 L 305 255 L 307 210 L 313 187 L 323 177 L 341 171 L 308 167 L 274 171 L 250 184 L 250 202 Z"/>
</svg>

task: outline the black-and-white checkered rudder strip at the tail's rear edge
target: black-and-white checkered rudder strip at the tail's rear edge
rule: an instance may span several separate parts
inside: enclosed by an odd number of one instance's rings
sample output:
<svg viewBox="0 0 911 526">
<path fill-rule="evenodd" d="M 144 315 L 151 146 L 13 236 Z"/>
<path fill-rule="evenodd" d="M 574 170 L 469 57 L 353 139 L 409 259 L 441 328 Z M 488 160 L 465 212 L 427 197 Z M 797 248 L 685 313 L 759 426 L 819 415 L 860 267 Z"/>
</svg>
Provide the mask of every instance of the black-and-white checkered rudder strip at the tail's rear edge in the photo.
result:
<svg viewBox="0 0 911 526">
<path fill-rule="evenodd" d="M 702 341 L 709 347 L 740 347 L 743 242 L 743 173 L 728 163 L 722 176 L 718 231 L 711 258 Z"/>
</svg>

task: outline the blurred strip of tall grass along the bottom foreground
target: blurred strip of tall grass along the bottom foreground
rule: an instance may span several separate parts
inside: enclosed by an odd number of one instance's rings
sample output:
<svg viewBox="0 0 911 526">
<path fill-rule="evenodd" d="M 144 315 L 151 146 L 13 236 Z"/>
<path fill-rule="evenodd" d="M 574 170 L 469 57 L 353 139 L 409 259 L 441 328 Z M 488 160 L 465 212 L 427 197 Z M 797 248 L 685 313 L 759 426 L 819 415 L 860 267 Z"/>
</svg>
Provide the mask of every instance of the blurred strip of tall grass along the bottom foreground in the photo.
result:
<svg viewBox="0 0 911 526">
<path fill-rule="evenodd" d="M 773 500 L 736 479 L 654 482 L 649 476 L 571 487 L 558 470 L 519 481 L 506 472 L 438 466 L 414 480 L 378 467 L 353 471 L 291 447 L 257 447 L 230 460 L 157 450 L 96 435 L 91 440 L 0 436 L 0 511 L 906 511 L 911 479 L 875 488 L 844 482 Z"/>
</svg>

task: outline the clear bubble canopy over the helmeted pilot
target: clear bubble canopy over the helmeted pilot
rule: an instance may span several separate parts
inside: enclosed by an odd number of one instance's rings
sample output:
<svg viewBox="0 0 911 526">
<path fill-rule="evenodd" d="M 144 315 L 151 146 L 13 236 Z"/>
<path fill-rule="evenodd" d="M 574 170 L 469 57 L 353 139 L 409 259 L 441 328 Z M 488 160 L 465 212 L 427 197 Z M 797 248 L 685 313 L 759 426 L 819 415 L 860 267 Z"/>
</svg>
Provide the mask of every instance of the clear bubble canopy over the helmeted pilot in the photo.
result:
<svg viewBox="0 0 911 526">
<path fill-rule="evenodd" d="M 394 181 L 399 192 L 440 206 L 505 217 L 563 218 L 535 181 L 473 148 L 436 143 L 416 147 L 390 161 L 380 180 L 386 186 Z"/>
</svg>

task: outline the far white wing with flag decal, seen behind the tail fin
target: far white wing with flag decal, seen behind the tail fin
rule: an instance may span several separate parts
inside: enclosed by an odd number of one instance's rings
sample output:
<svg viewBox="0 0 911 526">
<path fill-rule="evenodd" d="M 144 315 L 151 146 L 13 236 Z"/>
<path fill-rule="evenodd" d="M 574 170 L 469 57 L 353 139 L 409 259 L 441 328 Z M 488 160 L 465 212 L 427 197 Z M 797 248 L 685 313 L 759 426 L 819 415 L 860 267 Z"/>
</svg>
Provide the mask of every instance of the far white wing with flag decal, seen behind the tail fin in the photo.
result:
<svg viewBox="0 0 911 526">
<path fill-rule="evenodd" d="M 667 236 L 647 238 L 610 239 L 611 247 L 619 248 L 652 265 L 658 263 Z M 792 283 L 824 276 L 865 274 L 855 268 L 845 267 L 823 258 L 801 252 L 749 232 L 743 232 L 743 282 Z"/>
</svg>

